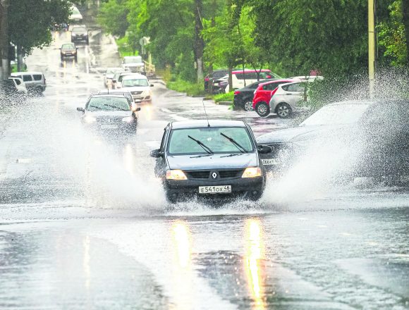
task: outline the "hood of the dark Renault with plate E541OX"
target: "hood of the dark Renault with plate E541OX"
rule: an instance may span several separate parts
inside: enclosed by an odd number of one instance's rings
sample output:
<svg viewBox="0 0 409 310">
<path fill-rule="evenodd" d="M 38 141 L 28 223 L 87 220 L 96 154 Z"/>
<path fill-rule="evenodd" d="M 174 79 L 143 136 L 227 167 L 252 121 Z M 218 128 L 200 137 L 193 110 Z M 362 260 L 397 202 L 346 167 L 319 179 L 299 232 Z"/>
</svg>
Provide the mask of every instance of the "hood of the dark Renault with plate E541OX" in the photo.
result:
<svg viewBox="0 0 409 310">
<path fill-rule="evenodd" d="M 210 156 L 179 155 L 167 156 L 169 168 L 181 170 L 241 169 L 258 164 L 257 153 L 214 154 Z"/>
</svg>

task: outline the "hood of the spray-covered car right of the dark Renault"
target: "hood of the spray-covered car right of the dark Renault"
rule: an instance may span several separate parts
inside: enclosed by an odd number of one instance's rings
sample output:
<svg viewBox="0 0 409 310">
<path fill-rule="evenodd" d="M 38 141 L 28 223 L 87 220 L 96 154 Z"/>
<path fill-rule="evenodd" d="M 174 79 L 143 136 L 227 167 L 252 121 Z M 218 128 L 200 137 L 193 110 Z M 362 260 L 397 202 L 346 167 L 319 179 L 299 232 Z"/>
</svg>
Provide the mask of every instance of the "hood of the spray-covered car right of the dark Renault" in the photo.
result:
<svg viewBox="0 0 409 310">
<path fill-rule="evenodd" d="M 340 128 L 349 127 L 347 125 L 314 125 L 285 128 L 269 132 L 257 137 L 257 143 L 286 143 L 304 140 L 315 140 L 317 137 L 324 137 L 331 132 L 338 132 Z"/>
</svg>

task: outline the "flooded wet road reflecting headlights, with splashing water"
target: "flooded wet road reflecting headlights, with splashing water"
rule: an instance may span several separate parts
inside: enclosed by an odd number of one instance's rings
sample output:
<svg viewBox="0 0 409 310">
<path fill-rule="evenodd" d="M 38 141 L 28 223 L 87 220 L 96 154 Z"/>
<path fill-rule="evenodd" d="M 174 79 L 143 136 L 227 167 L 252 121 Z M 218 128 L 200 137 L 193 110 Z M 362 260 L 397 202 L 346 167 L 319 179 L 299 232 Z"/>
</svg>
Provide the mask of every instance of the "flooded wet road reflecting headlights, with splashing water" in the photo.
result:
<svg viewBox="0 0 409 310">
<path fill-rule="evenodd" d="M 202 100 L 154 83 L 135 137 L 83 130 L 77 106 L 118 66 L 91 28 L 78 63 L 66 32 L 35 50 L 43 97 L 0 111 L 1 309 L 409 309 L 409 193 L 269 182 L 257 204 L 166 205 L 149 151 Z M 207 104 L 256 135 L 291 120 Z"/>
</svg>

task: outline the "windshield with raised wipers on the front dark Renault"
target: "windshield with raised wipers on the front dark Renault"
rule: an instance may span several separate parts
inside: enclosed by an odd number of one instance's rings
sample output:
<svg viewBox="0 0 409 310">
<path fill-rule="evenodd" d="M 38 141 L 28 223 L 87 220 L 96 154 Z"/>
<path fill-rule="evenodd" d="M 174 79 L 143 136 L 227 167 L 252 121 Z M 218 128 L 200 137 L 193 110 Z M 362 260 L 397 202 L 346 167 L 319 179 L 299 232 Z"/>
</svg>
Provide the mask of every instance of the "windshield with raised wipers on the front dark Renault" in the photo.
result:
<svg viewBox="0 0 409 310">
<path fill-rule="evenodd" d="M 186 128 L 171 132 L 168 150 L 171 155 L 240 154 L 252 151 L 253 146 L 248 130 L 243 127 Z"/>
</svg>

